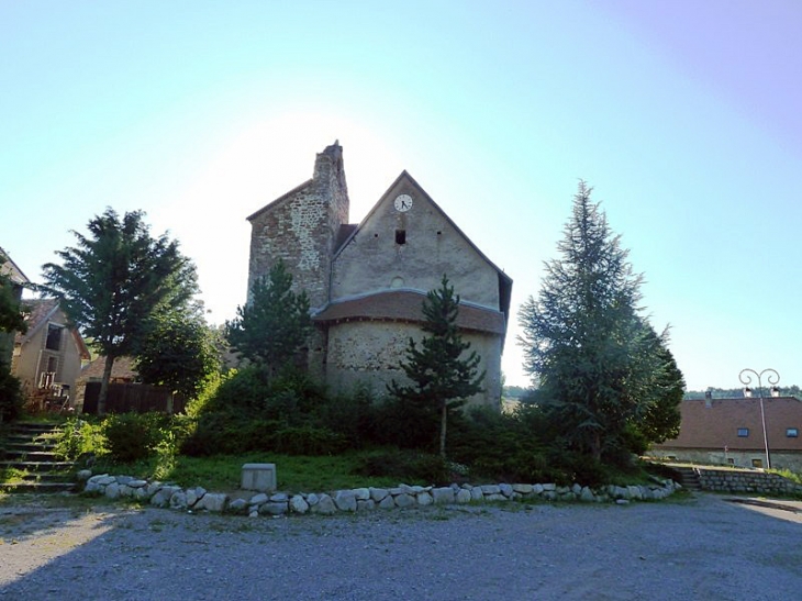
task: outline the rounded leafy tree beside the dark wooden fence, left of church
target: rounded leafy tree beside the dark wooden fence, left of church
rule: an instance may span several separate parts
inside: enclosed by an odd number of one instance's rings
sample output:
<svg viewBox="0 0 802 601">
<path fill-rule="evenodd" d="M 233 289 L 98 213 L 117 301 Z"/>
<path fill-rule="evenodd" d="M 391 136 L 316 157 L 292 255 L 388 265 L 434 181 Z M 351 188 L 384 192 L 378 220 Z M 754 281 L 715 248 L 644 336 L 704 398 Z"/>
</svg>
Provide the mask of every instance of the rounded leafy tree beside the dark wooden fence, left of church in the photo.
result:
<svg viewBox="0 0 802 601">
<path fill-rule="evenodd" d="M 136 370 L 146 383 L 193 398 L 220 369 L 216 337 L 202 305 L 158 312 L 136 349 Z"/>
</svg>

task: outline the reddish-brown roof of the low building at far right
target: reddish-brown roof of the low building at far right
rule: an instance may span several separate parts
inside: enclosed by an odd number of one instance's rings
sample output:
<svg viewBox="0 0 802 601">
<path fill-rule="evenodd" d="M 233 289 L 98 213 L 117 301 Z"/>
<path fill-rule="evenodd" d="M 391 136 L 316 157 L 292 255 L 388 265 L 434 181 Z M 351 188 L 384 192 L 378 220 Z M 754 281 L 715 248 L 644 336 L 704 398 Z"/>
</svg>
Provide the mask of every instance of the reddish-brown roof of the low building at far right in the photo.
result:
<svg viewBox="0 0 802 601">
<path fill-rule="evenodd" d="M 765 398 L 766 432 L 770 450 L 802 452 L 802 401 L 795 397 Z M 677 438 L 657 448 L 698 448 L 722 450 L 762 450 L 760 399 L 698 399 L 680 404 L 682 423 Z M 738 436 L 738 429 L 748 436 Z M 795 427 L 800 436 L 787 436 Z"/>
</svg>

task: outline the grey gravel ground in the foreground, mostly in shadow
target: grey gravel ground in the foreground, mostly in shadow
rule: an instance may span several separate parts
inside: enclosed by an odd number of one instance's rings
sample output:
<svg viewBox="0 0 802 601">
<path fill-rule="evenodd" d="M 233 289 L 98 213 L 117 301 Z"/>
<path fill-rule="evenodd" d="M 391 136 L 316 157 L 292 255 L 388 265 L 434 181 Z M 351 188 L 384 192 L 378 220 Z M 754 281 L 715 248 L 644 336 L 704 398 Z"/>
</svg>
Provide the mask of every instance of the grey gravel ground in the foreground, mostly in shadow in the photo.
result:
<svg viewBox="0 0 802 601">
<path fill-rule="evenodd" d="M 0 507 L 0 600 L 802 598 L 802 513 L 630 505 L 248 519 Z"/>
</svg>

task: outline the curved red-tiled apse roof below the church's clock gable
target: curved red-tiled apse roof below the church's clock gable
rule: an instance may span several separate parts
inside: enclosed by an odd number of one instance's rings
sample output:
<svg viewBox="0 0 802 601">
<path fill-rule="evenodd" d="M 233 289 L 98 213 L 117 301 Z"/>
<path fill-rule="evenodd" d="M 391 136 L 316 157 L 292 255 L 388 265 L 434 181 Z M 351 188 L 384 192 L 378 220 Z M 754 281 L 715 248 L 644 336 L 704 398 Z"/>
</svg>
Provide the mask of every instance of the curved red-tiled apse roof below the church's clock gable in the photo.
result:
<svg viewBox="0 0 802 601">
<path fill-rule="evenodd" d="M 423 299 L 415 290 L 387 290 L 328 304 L 313 316 L 316 322 L 391 320 L 423 322 Z M 503 335 L 504 314 L 500 311 L 460 303 L 457 325 L 464 330 Z"/>
</svg>

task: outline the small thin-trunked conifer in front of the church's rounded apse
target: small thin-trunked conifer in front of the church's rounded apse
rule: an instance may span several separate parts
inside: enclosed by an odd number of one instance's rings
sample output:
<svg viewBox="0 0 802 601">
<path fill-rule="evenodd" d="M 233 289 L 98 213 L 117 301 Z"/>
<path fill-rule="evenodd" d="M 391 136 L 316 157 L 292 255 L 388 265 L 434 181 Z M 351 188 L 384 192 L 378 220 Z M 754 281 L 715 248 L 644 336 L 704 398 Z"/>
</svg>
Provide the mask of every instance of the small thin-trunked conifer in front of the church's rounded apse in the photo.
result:
<svg viewBox="0 0 802 601">
<path fill-rule="evenodd" d="M 448 411 L 465 404 L 468 397 L 482 390 L 484 372 L 479 374 L 481 358 L 470 350 L 457 329 L 459 296 L 444 275 L 441 287 L 430 290 L 423 301 L 423 331 L 426 335 L 419 348 L 413 338 L 406 346 L 406 360 L 401 363 L 412 385 L 401 386 L 396 380 L 388 385 L 389 392 L 413 405 L 430 405 L 439 413 L 439 454 L 445 458 Z"/>
</svg>

